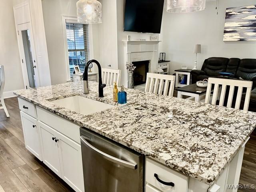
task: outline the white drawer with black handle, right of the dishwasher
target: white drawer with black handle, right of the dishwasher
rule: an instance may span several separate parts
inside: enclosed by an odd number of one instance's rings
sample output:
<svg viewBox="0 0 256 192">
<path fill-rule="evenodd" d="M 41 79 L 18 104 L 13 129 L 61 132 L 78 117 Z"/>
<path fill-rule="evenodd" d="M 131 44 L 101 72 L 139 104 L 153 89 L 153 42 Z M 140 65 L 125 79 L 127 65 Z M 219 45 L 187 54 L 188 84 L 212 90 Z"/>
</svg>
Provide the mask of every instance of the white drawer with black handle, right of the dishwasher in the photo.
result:
<svg viewBox="0 0 256 192">
<path fill-rule="evenodd" d="M 159 180 L 173 182 L 174 186 L 167 186 L 159 182 L 154 176 L 157 174 Z M 162 192 L 187 192 L 188 176 L 178 173 L 160 163 L 146 158 L 146 182 Z"/>
</svg>

